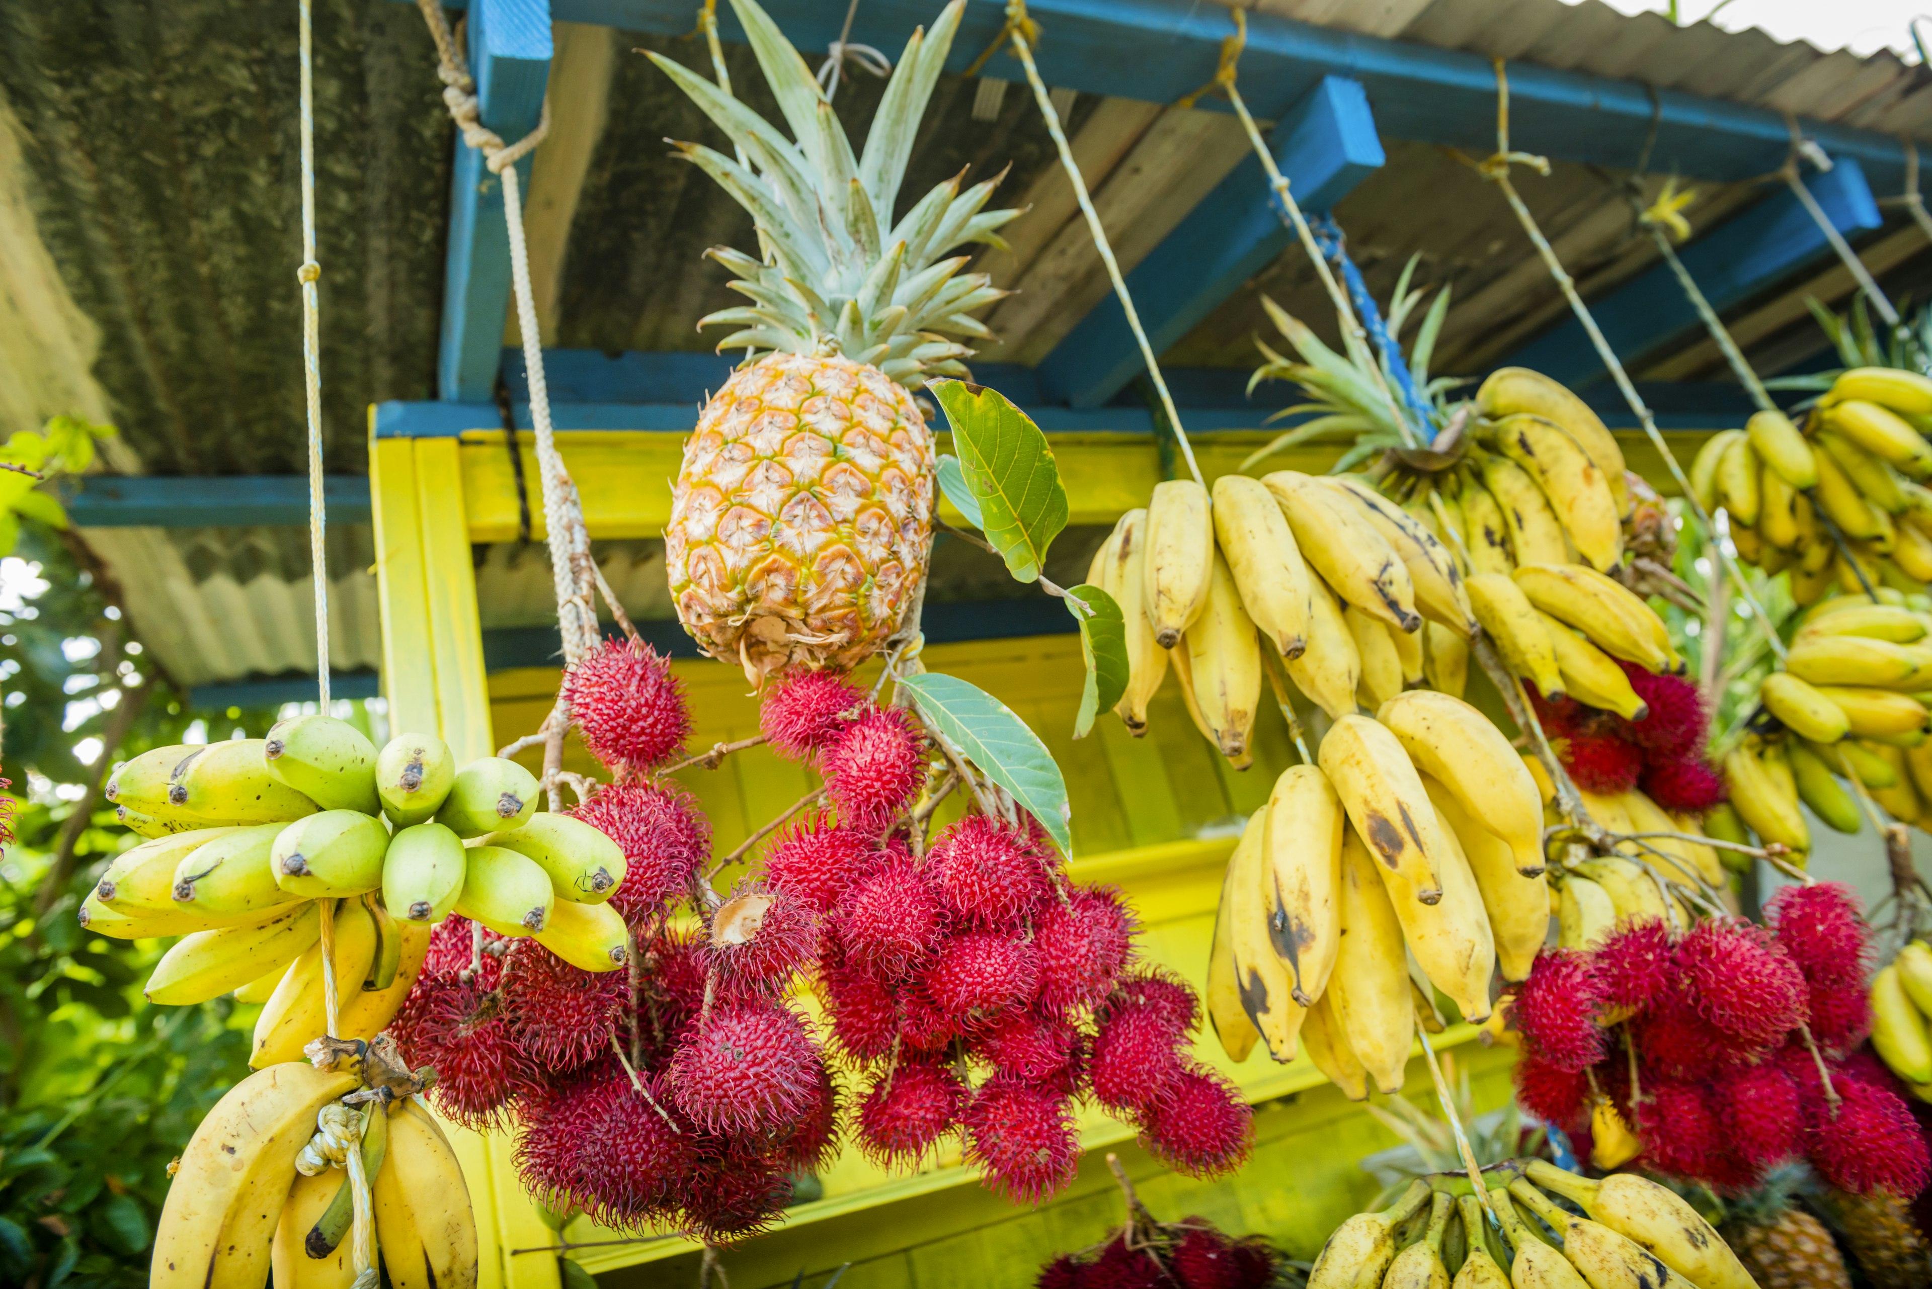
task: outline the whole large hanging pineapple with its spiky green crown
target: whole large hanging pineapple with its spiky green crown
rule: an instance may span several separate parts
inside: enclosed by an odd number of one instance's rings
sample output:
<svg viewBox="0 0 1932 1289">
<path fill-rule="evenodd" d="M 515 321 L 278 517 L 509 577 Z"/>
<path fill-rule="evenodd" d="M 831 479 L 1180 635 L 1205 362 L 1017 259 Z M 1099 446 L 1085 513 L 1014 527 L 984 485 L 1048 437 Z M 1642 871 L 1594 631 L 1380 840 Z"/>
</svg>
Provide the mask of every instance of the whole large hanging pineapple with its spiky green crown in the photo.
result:
<svg viewBox="0 0 1932 1289">
<path fill-rule="evenodd" d="M 684 630 L 759 684 L 786 667 L 862 663 L 914 601 L 931 551 L 935 462 L 912 394 L 931 375 L 966 375 L 972 350 L 958 336 L 989 338 L 972 311 L 1005 296 L 985 274 L 958 272 L 966 255 L 947 253 L 1003 245 L 995 230 L 1018 211 L 981 209 L 997 178 L 960 191 L 954 176 L 893 222 L 964 0 L 906 43 L 860 157 L 763 10 L 732 8 L 796 143 L 651 54 L 748 160 L 676 143 L 752 213 L 763 249 L 757 259 L 707 251 L 752 303 L 699 325 L 736 327 L 719 350 L 753 356 L 684 444 L 665 562 Z"/>
</svg>

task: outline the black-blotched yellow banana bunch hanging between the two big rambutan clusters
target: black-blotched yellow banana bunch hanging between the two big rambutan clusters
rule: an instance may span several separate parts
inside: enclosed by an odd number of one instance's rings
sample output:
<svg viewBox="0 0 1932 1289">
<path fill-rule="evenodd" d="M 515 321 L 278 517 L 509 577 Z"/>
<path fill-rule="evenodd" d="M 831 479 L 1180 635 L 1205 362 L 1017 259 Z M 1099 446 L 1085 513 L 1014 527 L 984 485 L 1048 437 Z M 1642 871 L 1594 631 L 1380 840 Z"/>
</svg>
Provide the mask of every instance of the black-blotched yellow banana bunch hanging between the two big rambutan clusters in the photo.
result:
<svg viewBox="0 0 1932 1289">
<path fill-rule="evenodd" d="M 1408 690 L 1343 715 L 1227 866 L 1208 968 L 1223 1049 L 1306 1044 L 1350 1098 L 1397 1092 L 1416 1028 L 1408 959 L 1468 1020 L 1522 980 L 1549 928 L 1536 783 L 1488 717 Z M 1432 1001 L 1424 1001 L 1434 1011 Z"/>
</svg>

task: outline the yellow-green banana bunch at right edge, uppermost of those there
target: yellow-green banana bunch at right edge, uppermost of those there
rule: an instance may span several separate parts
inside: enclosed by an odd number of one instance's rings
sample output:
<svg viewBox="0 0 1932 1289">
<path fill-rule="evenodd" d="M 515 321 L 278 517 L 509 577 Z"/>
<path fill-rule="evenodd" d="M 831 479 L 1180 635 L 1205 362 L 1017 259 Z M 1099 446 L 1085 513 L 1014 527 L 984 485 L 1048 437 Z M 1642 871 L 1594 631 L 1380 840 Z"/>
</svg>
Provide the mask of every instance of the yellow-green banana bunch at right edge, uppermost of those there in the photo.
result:
<svg viewBox="0 0 1932 1289">
<path fill-rule="evenodd" d="M 1729 514 L 1739 557 L 1789 570 L 1791 597 L 1812 605 L 1833 586 L 1922 595 L 1932 582 L 1932 379 L 1853 367 L 1803 429 L 1758 412 L 1712 435 L 1690 466 L 1706 512 Z M 1835 530 L 1835 531 L 1833 531 Z"/>
</svg>

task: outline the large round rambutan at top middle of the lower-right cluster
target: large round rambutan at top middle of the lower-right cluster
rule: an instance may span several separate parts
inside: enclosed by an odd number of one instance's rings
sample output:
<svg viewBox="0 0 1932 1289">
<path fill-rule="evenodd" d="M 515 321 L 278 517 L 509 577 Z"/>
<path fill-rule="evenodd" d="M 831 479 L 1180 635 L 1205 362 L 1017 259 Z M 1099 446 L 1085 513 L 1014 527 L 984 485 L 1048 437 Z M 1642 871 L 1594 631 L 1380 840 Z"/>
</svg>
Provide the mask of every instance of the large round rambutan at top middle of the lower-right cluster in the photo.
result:
<svg viewBox="0 0 1932 1289">
<path fill-rule="evenodd" d="M 1760 926 L 1698 922 L 1677 943 L 1677 964 L 1685 997 L 1739 1057 L 1776 1047 L 1804 1024 L 1804 974 Z"/>
</svg>

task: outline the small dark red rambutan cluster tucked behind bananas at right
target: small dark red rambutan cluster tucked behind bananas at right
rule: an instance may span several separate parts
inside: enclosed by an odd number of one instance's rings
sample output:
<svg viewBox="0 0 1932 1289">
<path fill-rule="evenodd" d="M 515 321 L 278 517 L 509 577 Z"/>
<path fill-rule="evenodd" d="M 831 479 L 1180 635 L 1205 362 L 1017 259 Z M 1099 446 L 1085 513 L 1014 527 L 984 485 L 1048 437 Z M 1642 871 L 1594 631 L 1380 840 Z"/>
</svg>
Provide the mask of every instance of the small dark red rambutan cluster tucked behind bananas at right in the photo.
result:
<svg viewBox="0 0 1932 1289">
<path fill-rule="evenodd" d="M 1702 812 L 1725 798 L 1723 777 L 1706 759 L 1710 713 L 1683 676 L 1656 676 L 1617 663 L 1644 702 L 1644 715 L 1625 721 L 1575 698 L 1544 700 L 1530 690 L 1536 719 L 1571 779 L 1590 792 L 1642 788 L 1663 810 Z"/>
</svg>

